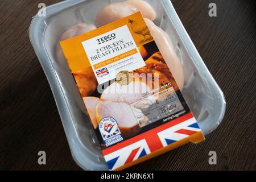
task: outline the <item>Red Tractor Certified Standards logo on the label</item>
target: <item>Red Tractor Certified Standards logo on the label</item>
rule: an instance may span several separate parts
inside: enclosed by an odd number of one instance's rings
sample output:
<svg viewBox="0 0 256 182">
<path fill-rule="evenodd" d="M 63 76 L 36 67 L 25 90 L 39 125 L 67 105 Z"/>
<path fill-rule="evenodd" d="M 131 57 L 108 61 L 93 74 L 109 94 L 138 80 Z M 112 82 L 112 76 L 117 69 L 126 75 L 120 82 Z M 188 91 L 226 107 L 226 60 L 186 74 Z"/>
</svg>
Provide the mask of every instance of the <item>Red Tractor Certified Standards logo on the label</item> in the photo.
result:
<svg viewBox="0 0 256 182">
<path fill-rule="evenodd" d="M 99 123 L 99 130 L 106 147 L 112 146 L 113 144 L 123 140 L 117 121 L 112 117 L 105 117 L 101 119 Z"/>
</svg>

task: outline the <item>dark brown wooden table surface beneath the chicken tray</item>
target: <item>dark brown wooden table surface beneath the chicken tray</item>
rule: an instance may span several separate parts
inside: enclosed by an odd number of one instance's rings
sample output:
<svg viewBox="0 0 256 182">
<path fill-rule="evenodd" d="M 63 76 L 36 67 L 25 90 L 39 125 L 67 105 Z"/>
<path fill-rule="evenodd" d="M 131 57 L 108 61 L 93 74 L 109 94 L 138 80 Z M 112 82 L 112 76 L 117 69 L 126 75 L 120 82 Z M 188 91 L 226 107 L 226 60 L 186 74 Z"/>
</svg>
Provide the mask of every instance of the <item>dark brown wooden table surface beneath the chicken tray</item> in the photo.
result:
<svg viewBox="0 0 256 182">
<path fill-rule="evenodd" d="M 28 38 L 38 3 L 0 3 L 0 169 L 81 170 L 69 151 L 46 76 Z M 255 170 L 255 1 L 173 0 L 177 14 L 226 97 L 226 114 L 207 140 L 130 170 Z M 217 17 L 208 5 L 217 5 Z M 38 151 L 47 164 L 38 164 Z M 208 152 L 217 152 L 209 165 Z"/>
</svg>

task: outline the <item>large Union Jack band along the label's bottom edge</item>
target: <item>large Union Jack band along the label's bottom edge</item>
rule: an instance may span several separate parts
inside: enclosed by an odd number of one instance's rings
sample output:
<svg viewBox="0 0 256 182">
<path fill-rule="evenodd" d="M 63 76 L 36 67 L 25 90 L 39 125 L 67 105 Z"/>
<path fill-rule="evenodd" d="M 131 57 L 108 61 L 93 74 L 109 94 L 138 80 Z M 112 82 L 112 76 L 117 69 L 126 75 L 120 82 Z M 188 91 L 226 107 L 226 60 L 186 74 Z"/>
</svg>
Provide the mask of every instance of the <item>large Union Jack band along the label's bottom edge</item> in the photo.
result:
<svg viewBox="0 0 256 182">
<path fill-rule="evenodd" d="M 182 117 L 181 117 L 182 118 Z M 201 132 L 191 113 L 103 150 L 110 170 Z"/>
</svg>

